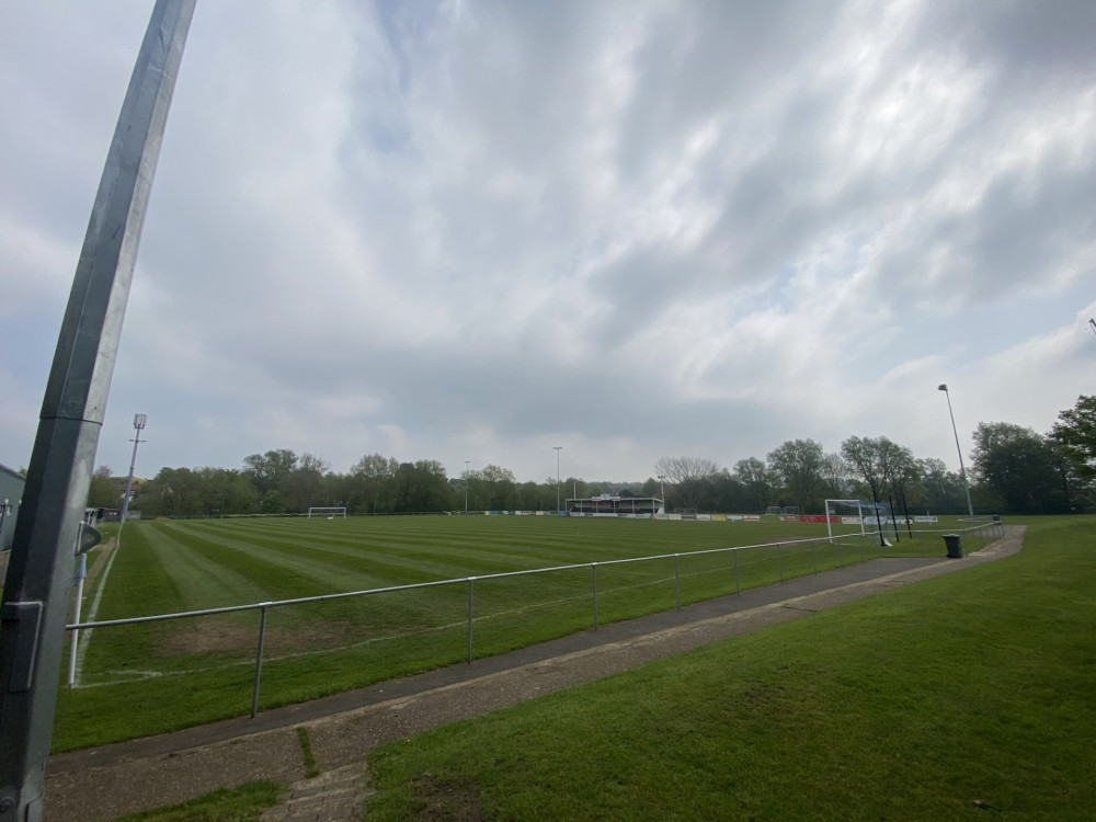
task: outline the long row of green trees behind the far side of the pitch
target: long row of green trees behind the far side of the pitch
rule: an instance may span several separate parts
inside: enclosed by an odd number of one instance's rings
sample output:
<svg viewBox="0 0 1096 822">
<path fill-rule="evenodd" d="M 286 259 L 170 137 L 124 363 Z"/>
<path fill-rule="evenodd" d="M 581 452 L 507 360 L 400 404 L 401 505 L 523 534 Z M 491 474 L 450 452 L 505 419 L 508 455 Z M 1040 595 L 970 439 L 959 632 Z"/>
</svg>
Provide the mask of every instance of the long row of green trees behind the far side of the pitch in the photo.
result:
<svg viewBox="0 0 1096 822">
<path fill-rule="evenodd" d="M 282 448 L 253 454 L 239 469 L 162 468 L 137 487 L 142 516 L 304 513 L 345 506 L 355 514 L 441 511 L 555 511 L 569 496 L 605 491 L 664 496 L 675 509 L 763 513 L 772 506 L 821 513 L 826 499 L 890 502 L 901 513 L 1060 514 L 1096 507 L 1096 397 L 1082 396 L 1047 434 L 1012 423 L 979 423 L 966 477 L 936 458 L 880 437 L 850 436 L 826 453 L 813 439 L 789 439 L 731 468 L 701 457 L 665 457 L 643 482 L 518 482 L 495 465 L 448 477 L 436 460 L 363 456 L 347 473 L 311 454 Z M 966 481 L 964 481 L 966 480 Z M 92 480 L 89 505 L 115 507 L 119 483 L 106 468 Z M 969 494 L 969 498 L 968 498 Z M 968 499 L 970 503 L 968 503 Z"/>
</svg>

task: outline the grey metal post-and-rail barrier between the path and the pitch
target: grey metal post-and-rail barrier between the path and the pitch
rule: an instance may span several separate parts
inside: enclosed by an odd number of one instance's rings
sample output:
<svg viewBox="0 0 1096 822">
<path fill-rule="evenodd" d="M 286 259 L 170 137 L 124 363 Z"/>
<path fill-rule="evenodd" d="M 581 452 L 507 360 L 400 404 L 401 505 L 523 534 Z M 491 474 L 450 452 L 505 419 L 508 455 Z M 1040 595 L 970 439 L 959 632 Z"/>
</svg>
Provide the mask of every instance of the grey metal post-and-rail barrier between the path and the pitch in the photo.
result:
<svg viewBox="0 0 1096 822">
<path fill-rule="evenodd" d="M 910 537 L 915 537 L 914 541 L 920 544 L 920 556 L 939 556 L 936 553 L 936 549 L 939 547 L 939 543 L 936 541 L 936 537 L 945 537 L 947 539 L 955 539 L 958 536 L 968 544 L 968 550 L 970 545 L 977 545 L 982 547 L 990 541 L 1004 536 L 1004 526 L 1001 524 L 1000 520 L 986 518 L 986 520 L 975 520 L 970 521 L 971 524 L 966 528 L 958 528 L 950 534 L 945 535 L 941 530 L 909 530 Z M 909 524 L 907 524 L 909 529 Z M 916 536 L 915 536 L 916 535 Z M 950 549 L 949 544 L 949 549 Z M 326 594 L 320 596 L 308 596 L 294 600 L 279 600 L 276 602 L 262 602 L 254 603 L 251 605 L 236 605 L 229 607 L 220 608 L 206 608 L 201 610 L 189 610 L 175 614 L 159 614 L 155 616 L 145 617 L 132 617 L 127 619 L 110 619 L 102 621 L 88 621 L 88 623 L 76 623 L 66 626 L 66 629 L 70 631 L 71 637 L 71 649 L 73 653 L 73 660 L 76 659 L 76 649 L 79 642 L 80 631 L 90 631 L 92 629 L 113 629 L 121 626 L 137 626 L 145 625 L 149 623 L 163 623 L 167 620 L 183 620 L 183 619 L 195 619 L 198 617 L 208 617 L 214 615 L 224 614 L 239 614 L 241 612 L 259 612 L 259 629 L 258 636 L 254 637 L 254 677 L 252 681 L 252 694 L 251 694 L 251 716 L 255 717 L 259 711 L 259 694 L 260 694 L 260 683 L 262 680 L 263 662 L 264 662 L 264 646 L 266 643 L 267 630 L 267 615 L 274 608 L 289 608 L 292 606 L 300 606 L 305 604 L 313 603 L 327 603 L 339 600 L 352 600 L 357 597 L 372 597 L 383 594 L 390 594 L 393 592 L 407 592 L 416 591 L 425 589 L 438 589 L 438 587 L 454 587 L 464 586 L 467 591 L 467 607 L 466 614 L 463 621 L 467 624 L 467 637 L 466 637 L 466 660 L 468 662 L 472 661 L 473 658 L 473 641 L 475 641 L 475 624 L 476 624 L 476 591 L 477 585 L 483 585 L 490 581 L 503 580 L 506 578 L 520 578 L 520 576 L 533 576 L 536 574 L 561 574 L 564 572 L 576 572 L 576 571 L 589 571 L 590 582 L 587 589 L 587 595 L 591 596 L 593 610 L 590 614 L 591 621 L 590 627 L 593 630 L 597 630 L 600 615 L 598 615 L 598 570 L 602 569 L 603 572 L 612 567 L 620 566 L 638 566 L 642 563 L 652 562 L 669 562 L 673 563 L 673 574 L 664 578 L 666 583 L 672 581 L 673 583 L 673 600 L 676 603 L 676 607 L 682 607 L 682 566 L 686 562 L 696 562 L 698 558 L 705 555 L 729 555 L 730 563 L 728 570 L 731 574 L 728 575 L 726 580 L 723 595 L 732 593 L 731 590 L 731 575 L 733 575 L 733 593 L 739 594 L 743 589 L 757 587 L 760 585 L 784 582 L 786 578 L 801 576 L 810 573 L 819 573 L 820 566 L 822 570 L 829 570 L 830 568 L 843 568 L 846 563 L 852 564 L 855 562 L 863 562 L 868 559 L 882 558 L 886 556 L 917 556 L 916 552 L 911 553 L 909 548 L 903 551 L 889 551 L 890 543 L 887 539 L 887 535 L 882 532 L 867 532 L 865 534 L 855 535 L 844 535 L 840 539 L 830 537 L 819 537 L 819 538 L 807 538 L 807 539 L 795 539 L 786 540 L 780 543 L 768 543 L 761 545 L 749 545 L 749 546 L 737 546 L 730 548 L 715 548 L 700 551 L 690 551 L 682 553 L 666 553 L 658 555 L 651 557 L 636 557 L 630 559 L 616 559 L 606 560 L 602 562 L 585 562 L 579 564 L 569 566 L 557 566 L 552 568 L 538 568 L 532 570 L 523 571 L 509 571 L 504 573 L 492 573 L 483 574 L 480 576 L 465 576 L 447 580 L 437 580 L 432 582 L 420 582 L 408 585 L 395 585 L 389 587 L 378 587 L 370 589 L 366 591 L 353 591 L 347 593 L 335 593 Z M 950 550 L 948 556 L 952 556 Z M 775 574 L 774 574 L 775 564 Z M 764 570 L 763 570 L 764 569 Z M 718 596 L 719 594 L 717 594 Z M 707 598 L 707 597 L 703 597 Z M 695 601 L 690 600 L 690 602 Z M 672 606 L 671 606 L 672 607 Z M 87 639 L 87 635 L 85 635 Z M 336 650 L 336 649 L 332 649 Z M 69 669 L 69 686 L 73 686 L 73 666 L 70 665 Z M 79 685 L 77 685 L 79 687 Z"/>
</svg>

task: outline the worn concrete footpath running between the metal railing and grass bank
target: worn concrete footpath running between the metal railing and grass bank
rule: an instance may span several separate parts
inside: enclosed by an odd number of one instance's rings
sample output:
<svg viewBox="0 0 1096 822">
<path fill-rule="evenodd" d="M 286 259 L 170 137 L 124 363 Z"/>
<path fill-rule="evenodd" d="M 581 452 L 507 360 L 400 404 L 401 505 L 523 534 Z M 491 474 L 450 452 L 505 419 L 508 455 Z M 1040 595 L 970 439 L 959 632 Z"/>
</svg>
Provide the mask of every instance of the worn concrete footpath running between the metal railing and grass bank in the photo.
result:
<svg viewBox="0 0 1096 822">
<path fill-rule="evenodd" d="M 615 623 L 500 657 L 176 733 L 50 757 L 46 822 L 100 822 L 254 779 L 292 786 L 264 822 L 357 820 L 379 744 L 627 671 L 880 591 L 1017 552 L 1024 528 L 961 559 L 875 559 L 676 610 Z M 320 776 L 306 779 L 297 729 Z"/>
</svg>

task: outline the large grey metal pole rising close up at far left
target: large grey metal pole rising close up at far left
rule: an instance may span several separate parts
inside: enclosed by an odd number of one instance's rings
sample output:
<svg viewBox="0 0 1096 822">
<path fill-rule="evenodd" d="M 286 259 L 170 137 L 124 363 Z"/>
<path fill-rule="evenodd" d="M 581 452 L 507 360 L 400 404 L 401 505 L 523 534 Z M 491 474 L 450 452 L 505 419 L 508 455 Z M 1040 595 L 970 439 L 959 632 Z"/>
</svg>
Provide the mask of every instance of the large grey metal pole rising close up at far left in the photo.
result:
<svg viewBox="0 0 1096 822">
<path fill-rule="evenodd" d="M 157 0 L 106 156 L 46 383 L 0 605 L 0 822 L 39 822 L 73 546 L 195 0 Z"/>
</svg>

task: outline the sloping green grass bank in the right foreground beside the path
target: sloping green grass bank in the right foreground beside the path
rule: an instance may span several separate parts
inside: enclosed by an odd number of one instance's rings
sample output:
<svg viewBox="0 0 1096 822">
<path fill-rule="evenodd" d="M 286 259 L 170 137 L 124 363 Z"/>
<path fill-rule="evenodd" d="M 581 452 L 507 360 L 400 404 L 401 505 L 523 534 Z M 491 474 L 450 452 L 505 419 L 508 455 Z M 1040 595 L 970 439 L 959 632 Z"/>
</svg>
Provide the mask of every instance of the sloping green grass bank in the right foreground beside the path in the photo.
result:
<svg viewBox="0 0 1096 822">
<path fill-rule="evenodd" d="M 1091 819 L 1094 526 L 380 747 L 369 819 Z"/>
</svg>

